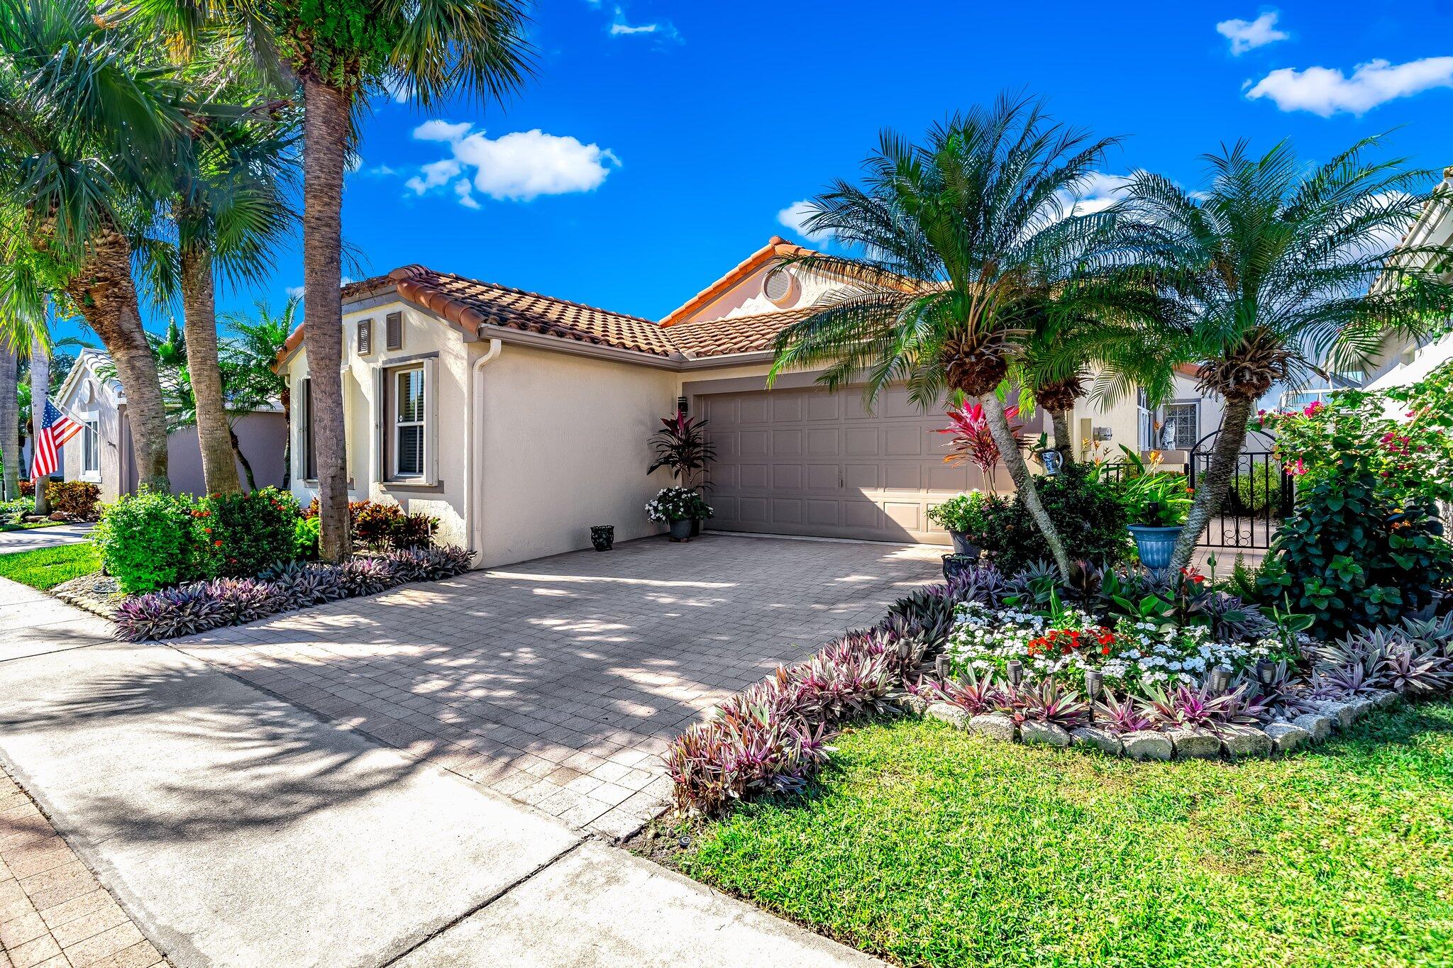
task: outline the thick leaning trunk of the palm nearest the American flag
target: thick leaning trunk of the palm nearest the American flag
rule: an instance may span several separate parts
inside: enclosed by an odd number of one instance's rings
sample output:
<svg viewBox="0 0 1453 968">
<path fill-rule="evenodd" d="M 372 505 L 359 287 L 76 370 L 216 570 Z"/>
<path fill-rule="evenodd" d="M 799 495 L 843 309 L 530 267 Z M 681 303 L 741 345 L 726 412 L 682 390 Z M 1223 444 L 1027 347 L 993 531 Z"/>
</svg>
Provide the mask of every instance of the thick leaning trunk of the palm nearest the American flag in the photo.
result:
<svg viewBox="0 0 1453 968">
<path fill-rule="evenodd" d="M 90 257 L 67 284 L 67 295 L 81 308 L 86 325 L 100 337 L 126 393 L 131 441 L 139 483 L 171 491 L 167 476 L 167 417 L 161 403 L 157 361 L 147 344 L 131 277 L 131 244 L 115 231 L 103 231 Z"/>
</svg>

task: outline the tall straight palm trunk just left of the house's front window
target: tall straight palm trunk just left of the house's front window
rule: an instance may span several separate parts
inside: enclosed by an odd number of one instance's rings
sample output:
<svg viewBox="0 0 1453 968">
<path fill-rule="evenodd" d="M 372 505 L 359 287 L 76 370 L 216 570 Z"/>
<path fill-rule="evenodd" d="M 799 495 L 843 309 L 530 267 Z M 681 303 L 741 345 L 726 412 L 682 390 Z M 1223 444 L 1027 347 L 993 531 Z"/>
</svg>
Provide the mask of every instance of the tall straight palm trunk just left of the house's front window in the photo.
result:
<svg viewBox="0 0 1453 968">
<path fill-rule="evenodd" d="M 349 553 L 347 440 L 343 428 L 343 161 L 349 99 L 334 87 L 304 80 L 302 116 L 302 311 L 304 348 L 312 399 L 318 464 L 320 556 Z"/>
</svg>

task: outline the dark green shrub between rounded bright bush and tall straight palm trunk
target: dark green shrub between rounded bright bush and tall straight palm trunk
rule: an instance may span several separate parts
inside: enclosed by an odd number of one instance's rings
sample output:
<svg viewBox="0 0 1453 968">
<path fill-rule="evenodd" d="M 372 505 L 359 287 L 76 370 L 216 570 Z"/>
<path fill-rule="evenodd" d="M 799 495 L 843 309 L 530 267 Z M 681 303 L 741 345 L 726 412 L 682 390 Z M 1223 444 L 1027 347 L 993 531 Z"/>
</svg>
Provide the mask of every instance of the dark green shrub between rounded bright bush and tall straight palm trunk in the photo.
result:
<svg viewBox="0 0 1453 968">
<path fill-rule="evenodd" d="M 251 493 L 214 493 L 196 502 L 212 554 L 214 573 L 231 578 L 260 575 L 295 557 L 298 502 L 291 493 L 263 488 Z"/>
</svg>

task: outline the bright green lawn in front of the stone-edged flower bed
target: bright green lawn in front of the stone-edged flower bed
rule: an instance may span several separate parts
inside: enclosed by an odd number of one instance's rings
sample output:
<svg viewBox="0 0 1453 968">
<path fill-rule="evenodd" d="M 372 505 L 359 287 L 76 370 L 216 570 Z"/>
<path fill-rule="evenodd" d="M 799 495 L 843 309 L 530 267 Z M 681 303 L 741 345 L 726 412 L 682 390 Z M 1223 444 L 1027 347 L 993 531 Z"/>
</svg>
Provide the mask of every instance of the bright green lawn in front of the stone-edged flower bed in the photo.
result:
<svg viewBox="0 0 1453 968">
<path fill-rule="evenodd" d="M 1453 964 L 1453 705 L 1289 759 L 1132 763 L 942 723 L 837 742 L 808 795 L 673 861 L 904 965 Z"/>
</svg>

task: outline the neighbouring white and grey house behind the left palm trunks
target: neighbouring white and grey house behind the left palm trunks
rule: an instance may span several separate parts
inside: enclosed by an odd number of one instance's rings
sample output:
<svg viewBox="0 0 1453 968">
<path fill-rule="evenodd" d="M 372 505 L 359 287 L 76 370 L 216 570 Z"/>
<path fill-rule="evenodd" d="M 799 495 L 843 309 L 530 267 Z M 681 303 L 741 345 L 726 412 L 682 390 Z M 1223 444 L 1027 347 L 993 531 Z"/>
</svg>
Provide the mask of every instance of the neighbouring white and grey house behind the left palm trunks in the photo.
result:
<svg viewBox="0 0 1453 968">
<path fill-rule="evenodd" d="M 132 454 L 126 395 L 121 382 L 108 379 L 110 357 L 83 350 L 55 402 L 86 430 L 61 447 L 61 472 L 65 480 L 90 480 L 100 486 L 102 501 L 135 493 L 137 462 Z M 238 446 L 253 466 L 257 486 L 282 485 L 283 446 L 288 425 L 280 409 L 241 414 L 232 421 Z M 196 427 L 183 427 L 167 437 L 167 473 L 176 493 L 202 493 L 202 451 Z M 241 464 L 237 469 L 243 475 Z M 246 476 L 243 477 L 246 482 Z"/>
</svg>

